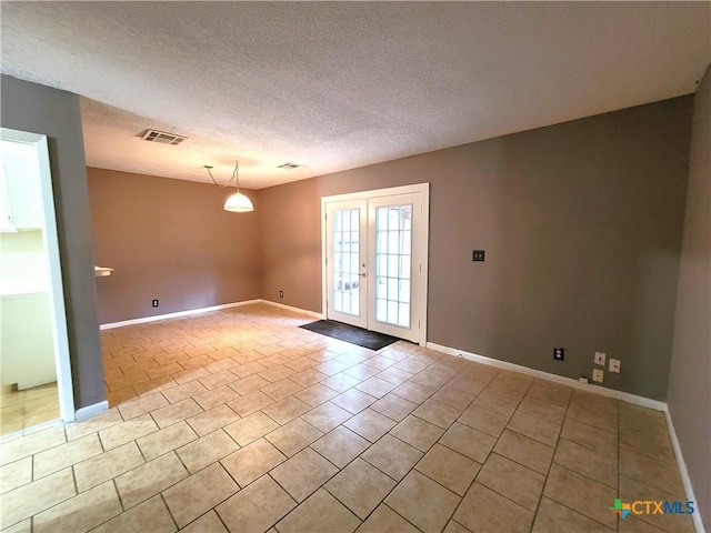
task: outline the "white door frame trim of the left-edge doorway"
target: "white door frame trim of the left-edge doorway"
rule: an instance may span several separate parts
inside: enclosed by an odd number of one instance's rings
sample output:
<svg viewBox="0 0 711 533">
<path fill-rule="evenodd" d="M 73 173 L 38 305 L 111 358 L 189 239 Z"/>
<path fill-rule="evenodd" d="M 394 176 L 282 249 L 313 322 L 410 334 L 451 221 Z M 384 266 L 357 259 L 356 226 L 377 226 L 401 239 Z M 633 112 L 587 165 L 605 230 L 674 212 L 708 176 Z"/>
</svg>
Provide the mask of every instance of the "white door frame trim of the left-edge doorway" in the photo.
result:
<svg viewBox="0 0 711 533">
<path fill-rule="evenodd" d="M 67 332 L 64 290 L 59 255 L 59 237 L 57 234 L 57 215 L 54 212 L 54 194 L 52 191 L 52 173 L 49 165 L 47 135 L 0 128 L 0 138 L 8 141 L 30 144 L 37 153 L 42 193 L 42 210 L 44 213 L 42 240 L 49 260 L 50 286 L 48 293 L 52 311 L 52 340 L 54 343 L 54 365 L 57 368 L 59 415 L 62 422 L 71 422 L 74 420 L 74 393 L 69 359 L 69 334 Z"/>
</svg>

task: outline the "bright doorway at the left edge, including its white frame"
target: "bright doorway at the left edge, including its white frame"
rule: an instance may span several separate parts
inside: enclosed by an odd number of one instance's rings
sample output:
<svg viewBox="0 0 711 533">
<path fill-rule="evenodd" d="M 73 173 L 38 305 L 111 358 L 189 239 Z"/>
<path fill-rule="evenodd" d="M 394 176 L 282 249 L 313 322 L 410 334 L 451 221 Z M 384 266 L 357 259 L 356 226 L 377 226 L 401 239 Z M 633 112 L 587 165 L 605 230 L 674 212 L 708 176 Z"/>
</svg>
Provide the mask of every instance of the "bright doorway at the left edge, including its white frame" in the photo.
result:
<svg viewBox="0 0 711 533">
<path fill-rule="evenodd" d="M 0 436 L 74 419 L 47 138 L 0 129 Z"/>
</svg>

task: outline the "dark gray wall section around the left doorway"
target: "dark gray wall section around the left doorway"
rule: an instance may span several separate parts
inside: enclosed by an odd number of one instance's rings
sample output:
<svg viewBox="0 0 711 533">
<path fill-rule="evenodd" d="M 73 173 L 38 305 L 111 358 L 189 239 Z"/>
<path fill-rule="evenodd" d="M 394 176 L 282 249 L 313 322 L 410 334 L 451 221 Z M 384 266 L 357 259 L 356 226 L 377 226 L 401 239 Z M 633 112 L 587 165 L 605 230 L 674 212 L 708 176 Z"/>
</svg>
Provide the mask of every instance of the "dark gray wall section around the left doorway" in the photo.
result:
<svg viewBox="0 0 711 533">
<path fill-rule="evenodd" d="M 106 399 L 79 97 L 1 79 L 3 128 L 48 138 L 76 408 Z"/>
</svg>

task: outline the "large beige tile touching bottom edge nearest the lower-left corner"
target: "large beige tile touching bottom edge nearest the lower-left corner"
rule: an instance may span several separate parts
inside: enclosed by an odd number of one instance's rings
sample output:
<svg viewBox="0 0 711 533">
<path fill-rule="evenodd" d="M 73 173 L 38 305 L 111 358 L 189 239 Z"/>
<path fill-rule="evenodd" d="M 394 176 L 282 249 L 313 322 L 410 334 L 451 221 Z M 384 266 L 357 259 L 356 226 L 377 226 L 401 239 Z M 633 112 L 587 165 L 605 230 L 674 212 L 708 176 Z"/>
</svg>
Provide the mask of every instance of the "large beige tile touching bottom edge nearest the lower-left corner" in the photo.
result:
<svg viewBox="0 0 711 533">
<path fill-rule="evenodd" d="M 32 519 L 32 531 L 83 533 L 117 516 L 121 511 L 116 487 L 112 482 L 107 481 L 37 514 Z"/>
</svg>

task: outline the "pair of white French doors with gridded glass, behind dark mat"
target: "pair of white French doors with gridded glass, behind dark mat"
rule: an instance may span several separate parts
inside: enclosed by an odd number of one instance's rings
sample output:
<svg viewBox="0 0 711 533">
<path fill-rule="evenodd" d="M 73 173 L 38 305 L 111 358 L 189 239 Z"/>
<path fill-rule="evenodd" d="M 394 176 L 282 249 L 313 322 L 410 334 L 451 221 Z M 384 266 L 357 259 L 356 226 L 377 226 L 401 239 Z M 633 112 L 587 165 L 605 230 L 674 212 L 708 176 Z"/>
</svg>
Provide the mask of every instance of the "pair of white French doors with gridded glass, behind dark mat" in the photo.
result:
<svg viewBox="0 0 711 533">
<path fill-rule="evenodd" d="M 330 320 L 424 344 L 429 187 L 323 199 Z"/>
</svg>

